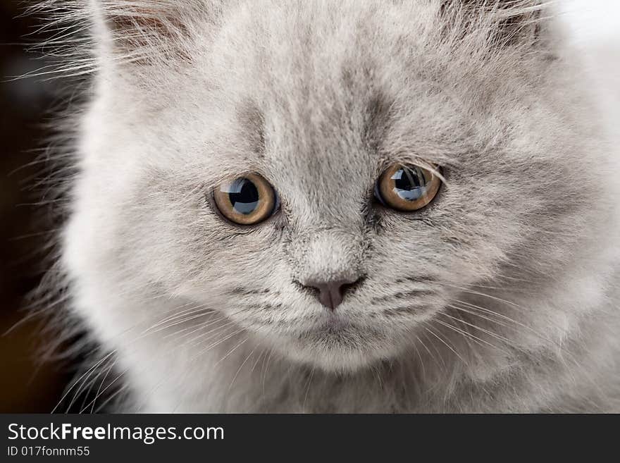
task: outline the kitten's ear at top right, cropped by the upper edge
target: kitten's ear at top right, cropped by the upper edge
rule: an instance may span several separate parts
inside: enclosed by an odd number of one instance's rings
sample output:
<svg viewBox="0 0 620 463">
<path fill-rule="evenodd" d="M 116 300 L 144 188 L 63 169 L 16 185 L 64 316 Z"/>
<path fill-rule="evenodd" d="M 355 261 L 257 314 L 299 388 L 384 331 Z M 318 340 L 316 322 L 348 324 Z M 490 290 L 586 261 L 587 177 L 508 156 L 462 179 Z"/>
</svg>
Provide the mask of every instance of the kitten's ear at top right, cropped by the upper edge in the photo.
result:
<svg viewBox="0 0 620 463">
<path fill-rule="evenodd" d="M 534 45 L 540 39 L 543 0 L 441 1 L 441 14 L 453 37 L 486 35 L 487 42 L 496 47 Z"/>
</svg>

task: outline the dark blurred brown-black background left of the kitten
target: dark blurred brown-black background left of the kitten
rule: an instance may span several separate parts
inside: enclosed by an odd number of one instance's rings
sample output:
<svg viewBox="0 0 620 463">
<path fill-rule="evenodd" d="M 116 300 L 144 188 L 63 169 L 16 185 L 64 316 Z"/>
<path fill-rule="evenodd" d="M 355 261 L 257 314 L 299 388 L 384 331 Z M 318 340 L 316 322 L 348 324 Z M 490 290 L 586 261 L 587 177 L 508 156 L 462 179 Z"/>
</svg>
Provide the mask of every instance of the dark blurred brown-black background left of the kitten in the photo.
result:
<svg viewBox="0 0 620 463">
<path fill-rule="evenodd" d="M 25 316 L 52 228 L 45 220 L 48 206 L 34 205 L 40 190 L 32 185 L 44 168 L 35 161 L 51 135 L 50 110 L 63 82 L 12 79 L 46 65 L 27 45 L 44 39 L 40 20 L 23 13 L 23 1 L 0 1 L 0 412 L 51 412 L 72 377 L 71 366 L 42 361 L 42 346 L 54 333 L 42 331 L 39 316 Z"/>
</svg>

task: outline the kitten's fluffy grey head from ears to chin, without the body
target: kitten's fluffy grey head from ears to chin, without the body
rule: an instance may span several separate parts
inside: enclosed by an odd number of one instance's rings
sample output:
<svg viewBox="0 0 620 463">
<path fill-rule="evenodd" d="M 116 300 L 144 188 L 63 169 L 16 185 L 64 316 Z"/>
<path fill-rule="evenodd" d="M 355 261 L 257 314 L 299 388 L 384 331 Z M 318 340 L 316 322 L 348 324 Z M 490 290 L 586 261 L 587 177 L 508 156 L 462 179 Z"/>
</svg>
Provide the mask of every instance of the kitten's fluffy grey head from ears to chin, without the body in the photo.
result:
<svg viewBox="0 0 620 463">
<path fill-rule="evenodd" d="M 535 290 L 602 197 L 539 3 L 94 1 L 73 275 L 328 370 Z"/>
</svg>

